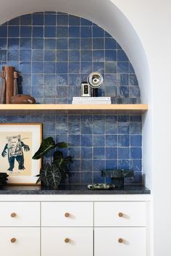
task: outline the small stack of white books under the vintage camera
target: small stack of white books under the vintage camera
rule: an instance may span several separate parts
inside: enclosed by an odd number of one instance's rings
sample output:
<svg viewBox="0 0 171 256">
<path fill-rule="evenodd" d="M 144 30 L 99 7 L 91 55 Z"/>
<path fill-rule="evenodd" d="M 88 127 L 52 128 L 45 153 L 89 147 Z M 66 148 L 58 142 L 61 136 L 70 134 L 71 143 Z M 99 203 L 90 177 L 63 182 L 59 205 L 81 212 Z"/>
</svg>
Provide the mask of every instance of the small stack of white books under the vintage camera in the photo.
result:
<svg viewBox="0 0 171 256">
<path fill-rule="evenodd" d="M 73 97 L 72 104 L 111 104 L 110 97 Z"/>
</svg>

